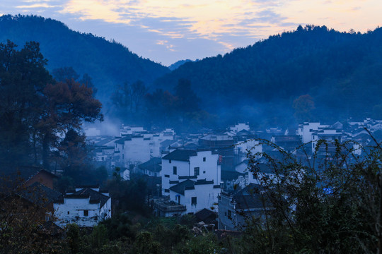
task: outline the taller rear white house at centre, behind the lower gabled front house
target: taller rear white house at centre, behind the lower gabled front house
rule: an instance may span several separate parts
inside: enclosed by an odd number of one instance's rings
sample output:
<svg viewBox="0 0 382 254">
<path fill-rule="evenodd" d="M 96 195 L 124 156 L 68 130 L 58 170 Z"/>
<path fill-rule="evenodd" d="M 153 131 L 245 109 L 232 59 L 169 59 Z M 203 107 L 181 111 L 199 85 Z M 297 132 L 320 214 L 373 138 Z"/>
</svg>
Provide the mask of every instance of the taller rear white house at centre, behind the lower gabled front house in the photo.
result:
<svg viewBox="0 0 382 254">
<path fill-rule="evenodd" d="M 169 195 L 170 181 L 179 181 L 182 176 L 195 176 L 220 185 L 221 170 L 219 155 L 211 150 L 173 150 L 162 157 L 162 193 Z"/>
</svg>

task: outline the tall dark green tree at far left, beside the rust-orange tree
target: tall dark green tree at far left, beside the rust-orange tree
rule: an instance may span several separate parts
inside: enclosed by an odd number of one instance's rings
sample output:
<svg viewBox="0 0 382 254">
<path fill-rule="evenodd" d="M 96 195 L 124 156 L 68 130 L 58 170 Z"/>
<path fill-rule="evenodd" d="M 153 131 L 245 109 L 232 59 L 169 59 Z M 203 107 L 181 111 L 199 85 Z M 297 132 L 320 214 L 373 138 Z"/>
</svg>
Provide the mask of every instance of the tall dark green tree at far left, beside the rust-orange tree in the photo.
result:
<svg viewBox="0 0 382 254">
<path fill-rule="evenodd" d="M 35 124 L 43 107 L 43 90 L 52 78 L 45 70 L 47 60 L 36 42 L 20 51 L 8 41 L 0 44 L 0 143 L 1 162 L 11 164 L 28 160 L 30 137 L 35 140 Z"/>
</svg>

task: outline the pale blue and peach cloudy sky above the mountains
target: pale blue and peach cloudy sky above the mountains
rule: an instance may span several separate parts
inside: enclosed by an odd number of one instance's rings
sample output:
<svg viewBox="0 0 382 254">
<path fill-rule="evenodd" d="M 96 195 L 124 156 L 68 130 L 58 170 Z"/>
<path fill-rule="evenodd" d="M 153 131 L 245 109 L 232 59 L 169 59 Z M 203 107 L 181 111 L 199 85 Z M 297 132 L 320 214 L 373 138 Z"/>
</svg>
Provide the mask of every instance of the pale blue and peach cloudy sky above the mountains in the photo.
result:
<svg viewBox="0 0 382 254">
<path fill-rule="evenodd" d="M 1 0 L 0 14 L 60 20 L 163 65 L 246 47 L 298 25 L 382 25 L 381 0 Z"/>
</svg>

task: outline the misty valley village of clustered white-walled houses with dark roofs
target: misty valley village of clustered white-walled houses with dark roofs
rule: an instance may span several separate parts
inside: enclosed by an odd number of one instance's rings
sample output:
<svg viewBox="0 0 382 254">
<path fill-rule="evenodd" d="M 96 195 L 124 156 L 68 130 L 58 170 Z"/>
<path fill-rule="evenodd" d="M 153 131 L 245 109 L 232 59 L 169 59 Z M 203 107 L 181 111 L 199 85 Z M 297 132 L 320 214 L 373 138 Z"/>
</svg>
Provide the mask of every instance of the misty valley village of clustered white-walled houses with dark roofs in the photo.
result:
<svg viewBox="0 0 382 254">
<path fill-rule="evenodd" d="M 216 205 L 220 202 L 218 196 L 222 198 L 224 193 L 231 191 L 237 193 L 236 204 L 240 200 L 259 204 L 258 200 L 248 200 L 249 196 L 241 190 L 260 185 L 259 177 L 274 179 L 275 172 L 267 164 L 267 159 L 261 157 L 263 152 L 281 160 L 280 150 L 298 157 L 309 156 L 313 152 L 325 155 L 325 152 L 332 152 L 335 140 L 340 143 L 355 140 L 361 145 L 368 145 L 373 142 L 370 133 L 376 135 L 377 140 L 382 138 L 382 121 L 349 119 L 346 123 L 311 122 L 301 123 L 296 129 L 270 127 L 257 131 L 251 130 L 248 123 L 238 123 L 226 130 L 204 129 L 201 133 L 182 135 L 171 129 L 149 132 L 141 127 L 124 126 L 117 137 L 98 136 L 91 140 L 97 140 L 94 142 L 97 151 L 95 160 L 107 166 L 110 174 L 112 169 L 120 167 L 125 172 L 158 179 L 157 198 L 153 199 L 156 214 L 173 216 L 195 214 L 212 207 L 213 212 L 219 212 L 221 207 Z M 270 140 L 272 144 L 262 140 Z M 319 140 L 327 143 L 327 150 L 316 149 Z M 300 155 L 297 147 L 304 147 L 307 154 Z M 360 152 L 356 148 L 354 152 Z M 247 159 L 248 151 L 258 154 L 255 165 Z M 256 175 L 253 170 L 257 171 Z M 239 198 L 241 194 L 245 198 Z M 259 197 L 255 195 L 253 198 Z"/>
</svg>

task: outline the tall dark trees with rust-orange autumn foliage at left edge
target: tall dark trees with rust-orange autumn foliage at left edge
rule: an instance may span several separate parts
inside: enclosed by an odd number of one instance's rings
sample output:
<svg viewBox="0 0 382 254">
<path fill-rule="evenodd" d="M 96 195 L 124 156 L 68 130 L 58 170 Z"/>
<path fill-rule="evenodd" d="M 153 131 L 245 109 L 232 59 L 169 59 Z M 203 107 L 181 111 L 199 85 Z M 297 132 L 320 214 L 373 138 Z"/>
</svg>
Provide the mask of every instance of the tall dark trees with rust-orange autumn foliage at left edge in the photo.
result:
<svg viewBox="0 0 382 254">
<path fill-rule="evenodd" d="M 89 179 L 82 123 L 103 120 L 101 103 L 89 84 L 54 80 L 46 64 L 37 42 L 0 43 L 0 170 L 35 165 L 79 183 Z"/>
</svg>

